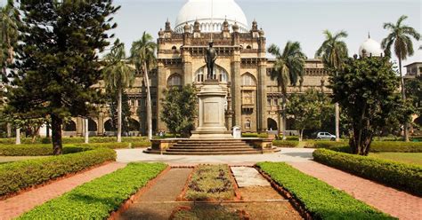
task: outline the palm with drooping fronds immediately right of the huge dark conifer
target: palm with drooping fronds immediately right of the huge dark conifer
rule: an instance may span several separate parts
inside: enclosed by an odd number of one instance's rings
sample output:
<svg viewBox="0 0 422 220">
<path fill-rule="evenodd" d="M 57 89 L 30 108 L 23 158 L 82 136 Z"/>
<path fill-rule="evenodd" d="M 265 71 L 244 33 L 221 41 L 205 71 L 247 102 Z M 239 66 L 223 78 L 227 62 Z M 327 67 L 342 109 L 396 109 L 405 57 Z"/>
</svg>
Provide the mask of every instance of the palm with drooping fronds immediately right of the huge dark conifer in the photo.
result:
<svg viewBox="0 0 422 220">
<path fill-rule="evenodd" d="M 122 141 L 122 93 L 134 84 L 134 69 L 126 63 L 125 44 L 118 40 L 110 53 L 104 57 L 107 66 L 103 80 L 109 90 L 118 90 L 118 142 Z"/>
</svg>

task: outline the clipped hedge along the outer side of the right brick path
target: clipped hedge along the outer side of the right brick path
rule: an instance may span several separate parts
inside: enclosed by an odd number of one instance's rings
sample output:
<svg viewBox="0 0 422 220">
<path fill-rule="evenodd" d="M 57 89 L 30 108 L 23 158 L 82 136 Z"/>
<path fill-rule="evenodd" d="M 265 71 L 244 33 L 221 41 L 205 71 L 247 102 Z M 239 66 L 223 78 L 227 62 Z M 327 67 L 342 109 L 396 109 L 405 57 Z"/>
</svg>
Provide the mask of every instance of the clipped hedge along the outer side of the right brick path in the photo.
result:
<svg viewBox="0 0 422 220">
<path fill-rule="evenodd" d="M 327 149 L 314 151 L 313 160 L 384 185 L 422 195 L 422 166 Z"/>
</svg>

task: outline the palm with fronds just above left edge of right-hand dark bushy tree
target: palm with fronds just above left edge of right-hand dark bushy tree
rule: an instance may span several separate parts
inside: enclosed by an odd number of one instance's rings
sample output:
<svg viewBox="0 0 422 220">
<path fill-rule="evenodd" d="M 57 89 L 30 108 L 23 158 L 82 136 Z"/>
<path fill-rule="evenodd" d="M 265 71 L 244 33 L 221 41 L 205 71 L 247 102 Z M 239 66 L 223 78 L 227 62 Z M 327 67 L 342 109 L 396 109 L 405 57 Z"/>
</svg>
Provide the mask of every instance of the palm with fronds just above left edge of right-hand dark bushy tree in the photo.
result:
<svg viewBox="0 0 422 220">
<path fill-rule="evenodd" d="M 333 35 L 329 30 L 324 30 L 325 41 L 316 51 L 315 57 L 320 57 L 322 62 L 337 75 L 337 71 L 343 68 L 344 61 L 348 57 L 347 45 L 342 38 L 347 37 L 345 31 L 339 31 Z M 340 140 L 340 108 L 336 103 L 336 141 Z"/>
</svg>

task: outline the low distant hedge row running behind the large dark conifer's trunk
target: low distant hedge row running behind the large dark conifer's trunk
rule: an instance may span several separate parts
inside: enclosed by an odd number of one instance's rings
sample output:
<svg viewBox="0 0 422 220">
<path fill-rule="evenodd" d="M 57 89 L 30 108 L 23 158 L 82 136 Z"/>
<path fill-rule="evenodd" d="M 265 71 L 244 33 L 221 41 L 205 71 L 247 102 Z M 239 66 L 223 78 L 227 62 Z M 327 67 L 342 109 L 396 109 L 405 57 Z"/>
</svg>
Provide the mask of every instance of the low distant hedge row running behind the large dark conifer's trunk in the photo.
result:
<svg viewBox="0 0 422 220">
<path fill-rule="evenodd" d="M 20 138 L 20 143 L 22 144 L 31 144 L 32 138 Z M 44 143 L 45 140 L 48 140 L 47 143 Z M 110 143 L 116 142 L 116 137 L 90 137 L 90 143 Z M 0 138 L 0 145 L 12 145 L 15 144 L 15 138 Z M 76 137 L 76 138 L 62 138 L 61 139 L 63 144 L 83 144 L 85 142 L 85 138 L 83 137 Z M 123 142 L 144 142 L 148 141 L 146 137 L 122 137 Z M 51 139 L 49 138 L 37 138 L 36 144 L 49 144 L 51 143 Z"/>
</svg>

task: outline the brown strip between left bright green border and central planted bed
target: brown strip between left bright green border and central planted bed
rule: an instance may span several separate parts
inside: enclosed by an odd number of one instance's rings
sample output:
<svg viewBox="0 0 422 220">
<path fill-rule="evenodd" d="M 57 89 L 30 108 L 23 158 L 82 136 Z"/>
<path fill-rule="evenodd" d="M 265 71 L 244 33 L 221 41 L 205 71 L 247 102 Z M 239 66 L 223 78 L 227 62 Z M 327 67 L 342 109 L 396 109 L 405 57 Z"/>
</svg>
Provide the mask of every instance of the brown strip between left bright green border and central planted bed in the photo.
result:
<svg viewBox="0 0 422 220">
<path fill-rule="evenodd" d="M 175 201 L 182 193 L 191 171 L 192 169 L 170 169 L 118 219 L 167 220 L 173 209 L 180 206 L 171 201 Z"/>
</svg>

